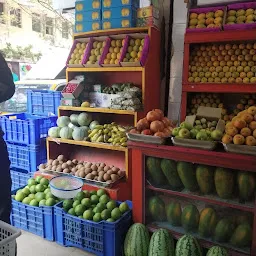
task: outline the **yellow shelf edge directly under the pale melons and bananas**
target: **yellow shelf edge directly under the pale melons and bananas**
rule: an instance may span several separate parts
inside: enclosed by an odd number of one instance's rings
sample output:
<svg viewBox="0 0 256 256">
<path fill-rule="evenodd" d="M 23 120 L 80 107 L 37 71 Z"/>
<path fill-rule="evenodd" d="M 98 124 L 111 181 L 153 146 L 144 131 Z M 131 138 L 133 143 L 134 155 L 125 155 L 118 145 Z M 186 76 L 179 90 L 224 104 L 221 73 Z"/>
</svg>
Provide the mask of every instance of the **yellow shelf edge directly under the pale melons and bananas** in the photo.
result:
<svg viewBox="0 0 256 256">
<path fill-rule="evenodd" d="M 94 143 L 89 141 L 75 141 L 75 140 L 67 140 L 67 139 L 60 139 L 60 138 L 47 138 L 47 141 L 53 141 L 57 144 L 69 144 L 69 145 L 78 145 L 78 146 L 84 146 L 84 147 L 91 147 L 91 148 L 102 148 L 102 149 L 108 149 L 108 150 L 114 150 L 114 151 L 122 151 L 127 152 L 128 149 L 121 146 L 114 146 L 107 143 Z"/>
</svg>

